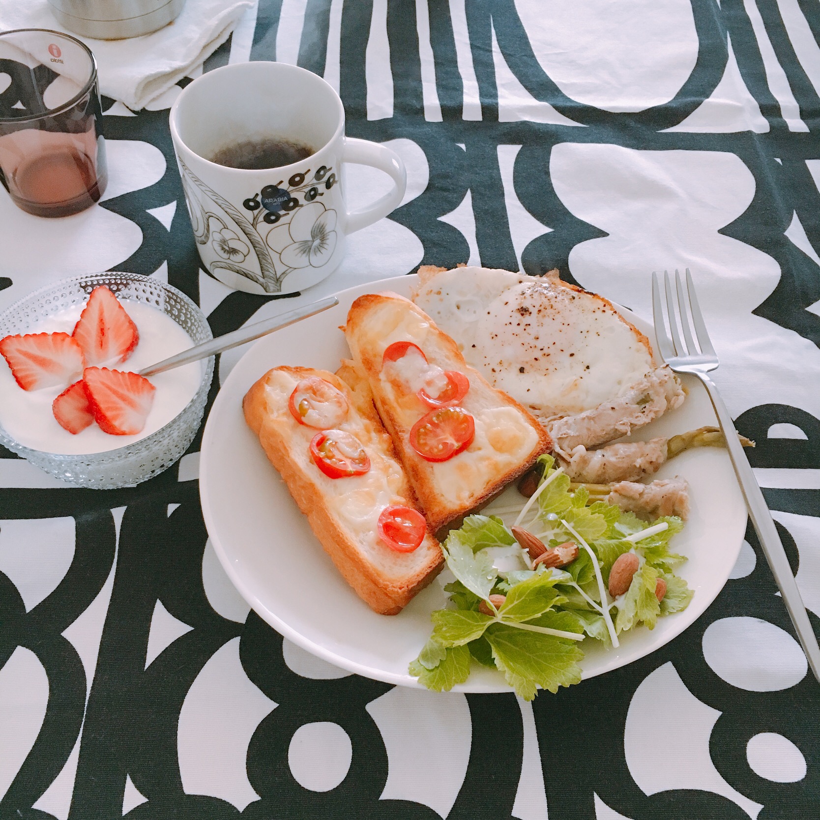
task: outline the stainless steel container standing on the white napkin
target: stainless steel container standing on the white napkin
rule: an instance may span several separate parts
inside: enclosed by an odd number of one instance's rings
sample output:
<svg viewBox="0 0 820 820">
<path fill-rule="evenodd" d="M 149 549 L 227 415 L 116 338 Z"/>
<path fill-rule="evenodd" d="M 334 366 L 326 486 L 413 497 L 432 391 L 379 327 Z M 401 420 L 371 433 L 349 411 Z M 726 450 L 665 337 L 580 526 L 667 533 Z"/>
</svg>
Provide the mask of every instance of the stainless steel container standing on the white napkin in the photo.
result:
<svg viewBox="0 0 820 820">
<path fill-rule="evenodd" d="M 60 25 L 99 40 L 149 34 L 179 16 L 185 0 L 48 0 Z"/>
</svg>

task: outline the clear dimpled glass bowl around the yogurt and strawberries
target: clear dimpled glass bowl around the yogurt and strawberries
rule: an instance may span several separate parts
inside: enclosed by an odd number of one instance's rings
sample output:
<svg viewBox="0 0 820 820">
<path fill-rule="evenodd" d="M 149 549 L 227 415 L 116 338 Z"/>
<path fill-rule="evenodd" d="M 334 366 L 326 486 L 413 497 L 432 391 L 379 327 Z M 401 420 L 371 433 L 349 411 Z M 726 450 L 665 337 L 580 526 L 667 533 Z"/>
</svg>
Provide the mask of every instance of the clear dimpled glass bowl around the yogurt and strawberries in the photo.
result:
<svg viewBox="0 0 820 820">
<path fill-rule="evenodd" d="M 107 272 L 65 279 L 57 285 L 35 290 L 14 303 L 0 314 L 0 339 L 11 334 L 25 334 L 53 313 L 84 303 L 98 285 L 107 285 L 119 298 L 161 310 L 185 330 L 193 344 L 213 338 L 205 314 L 176 288 L 150 276 Z M 98 490 L 134 487 L 171 467 L 189 448 L 202 421 L 211 387 L 213 361 L 209 358 L 205 362 L 199 388 L 179 415 L 151 435 L 125 447 L 89 455 L 46 453 L 18 444 L 2 426 L 0 444 L 70 484 Z M 123 367 L 127 367 L 127 362 Z"/>
</svg>

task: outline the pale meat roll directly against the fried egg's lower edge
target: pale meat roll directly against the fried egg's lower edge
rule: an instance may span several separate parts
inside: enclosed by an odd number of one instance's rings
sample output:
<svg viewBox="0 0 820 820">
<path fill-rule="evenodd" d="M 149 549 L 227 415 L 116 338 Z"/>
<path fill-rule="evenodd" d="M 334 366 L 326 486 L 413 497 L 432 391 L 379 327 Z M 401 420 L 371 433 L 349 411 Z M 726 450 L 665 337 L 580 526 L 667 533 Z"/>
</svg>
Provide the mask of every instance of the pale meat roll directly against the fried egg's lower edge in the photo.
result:
<svg viewBox="0 0 820 820">
<path fill-rule="evenodd" d="M 576 416 L 566 416 L 546 423 L 555 452 L 569 460 L 577 447 L 594 447 L 629 435 L 636 427 L 662 416 L 683 403 L 680 380 L 668 367 L 649 371 L 612 401 Z"/>
</svg>

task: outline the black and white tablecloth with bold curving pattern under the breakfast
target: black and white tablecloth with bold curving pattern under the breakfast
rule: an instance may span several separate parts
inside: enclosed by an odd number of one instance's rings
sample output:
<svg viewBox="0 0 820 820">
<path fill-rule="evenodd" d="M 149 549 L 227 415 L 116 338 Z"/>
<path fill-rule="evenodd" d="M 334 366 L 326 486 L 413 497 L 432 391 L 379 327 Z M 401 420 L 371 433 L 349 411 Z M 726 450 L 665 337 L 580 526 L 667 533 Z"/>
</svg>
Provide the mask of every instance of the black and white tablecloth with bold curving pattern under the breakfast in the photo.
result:
<svg viewBox="0 0 820 820">
<path fill-rule="evenodd" d="M 102 203 L 43 220 L 0 192 L 0 307 L 137 271 L 217 335 L 480 262 L 558 266 L 649 317 L 649 272 L 689 266 L 820 631 L 818 38 L 815 0 L 259 0 L 205 71 L 323 75 L 348 134 L 407 163 L 401 207 L 306 294 L 232 292 L 200 270 L 179 89 L 141 112 L 106 100 Z M 389 185 L 361 166 L 344 184 L 354 204 Z M 112 491 L 0 453 L 0 817 L 820 816 L 820 688 L 750 529 L 713 606 L 640 662 L 532 705 L 435 695 L 330 667 L 249 611 L 207 541 L 198 448 Z"/>
</svg>

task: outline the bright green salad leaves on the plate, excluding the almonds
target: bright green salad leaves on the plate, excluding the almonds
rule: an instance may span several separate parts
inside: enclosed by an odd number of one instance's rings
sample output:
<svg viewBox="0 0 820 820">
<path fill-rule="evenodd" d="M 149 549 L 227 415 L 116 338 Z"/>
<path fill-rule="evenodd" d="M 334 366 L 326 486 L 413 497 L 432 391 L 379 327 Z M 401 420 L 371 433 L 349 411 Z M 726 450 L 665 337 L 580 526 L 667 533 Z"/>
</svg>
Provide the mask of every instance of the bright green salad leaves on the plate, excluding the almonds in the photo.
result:
<svg viewBox="0 0 820 820">
<path fill-rule="evenodd" d="M 508 548 L 517 541 L 503 520 L 465 518 L 442 548 L 455 577 L 444 586 L 449 607 L 432 613 L 430 640 L 409 667 L 424 686 L 450 690 L 467 680 L 475 661 L 503 672 L 522 698 L 534 698 L 538 689 L 555 692 L 581 680 L 582 640 L 593 638 L 610 648 L 623 631 L 639 625 L 652 629 L 658 617 L 681 611 L 692 599 L 686 581 L 672 572 L 685 560 L 670 548 L 683 527 L 679 518 L 646 522 L 604 501 L 590 503 L 585 487 L 573 491 L 552 456 L 541 456 L 539 464 L 543 489 L 527 503 L 522 526 L 552 547 L 578 541 L 562 523 L 567 522 L 591 554 L 579 544 L 578 557 L 567 567 L 539 564 L 532 569 L 526 568 L 529 561 L 521 550 L 520 568 L 509 569 L 510 559 L 514 565 L 518 558 L 517 550 Z M 666 526 L 641 537 L 658 524 Z M 598 575 L 605 583 L 618 556 L 632 549 L 641 558 L 640 568 L 626 594 L 614 602 Z M 660 603 L 658 578 L 667 584 Z M 489 604 L 490 594 L 505 596 L 494 617 L 479 611 L 483 601 Z"/>
</svg>

